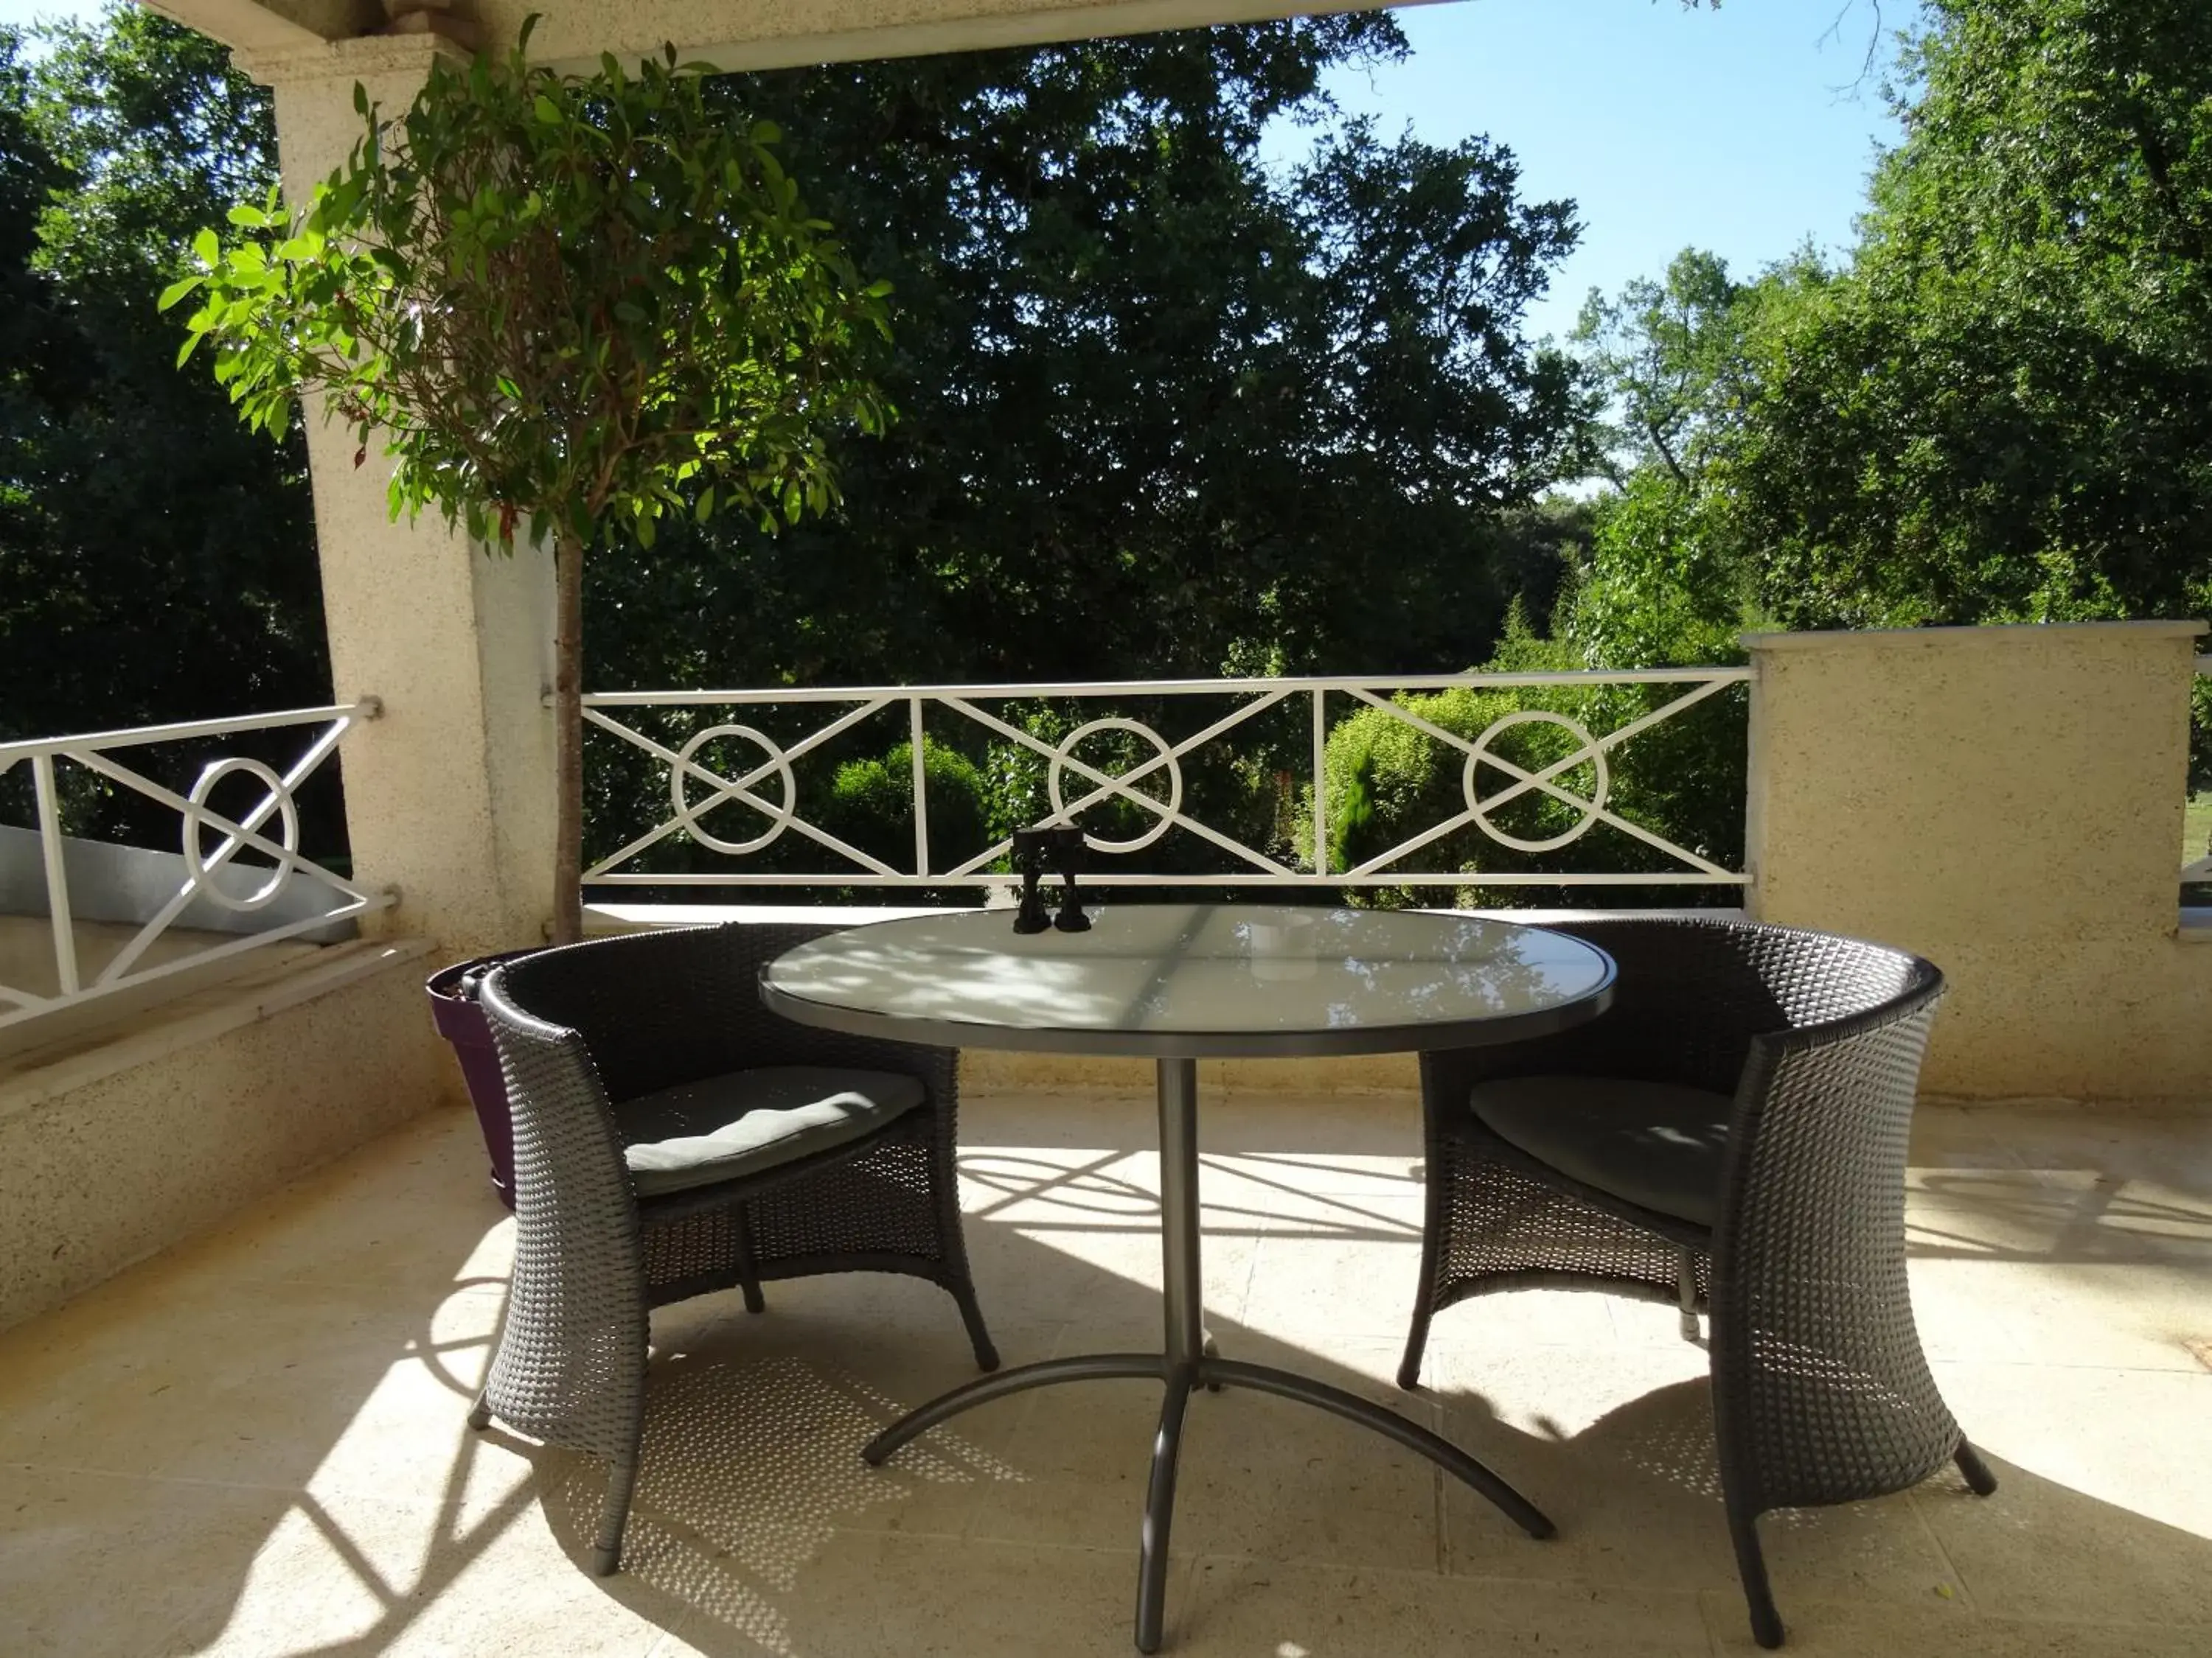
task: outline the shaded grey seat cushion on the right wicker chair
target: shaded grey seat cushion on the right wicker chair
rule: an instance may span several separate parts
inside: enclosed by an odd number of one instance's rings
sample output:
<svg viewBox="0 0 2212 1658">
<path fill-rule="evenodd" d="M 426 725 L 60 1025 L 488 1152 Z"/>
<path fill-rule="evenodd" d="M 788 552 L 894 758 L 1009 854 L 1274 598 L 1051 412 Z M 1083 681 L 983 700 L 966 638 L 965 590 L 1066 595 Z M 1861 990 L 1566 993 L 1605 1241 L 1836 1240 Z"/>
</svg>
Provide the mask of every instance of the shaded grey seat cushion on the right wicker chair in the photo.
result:
<svg viewBox="0 0 2212 1658">
<path fill-rule="evenodd" d="M 1469 1103 L 1498 1138 L 1584 1185 L 1712 1227 L 1734 1101 L 1617 1077 L 1509 1077 Z"/>
</svg>

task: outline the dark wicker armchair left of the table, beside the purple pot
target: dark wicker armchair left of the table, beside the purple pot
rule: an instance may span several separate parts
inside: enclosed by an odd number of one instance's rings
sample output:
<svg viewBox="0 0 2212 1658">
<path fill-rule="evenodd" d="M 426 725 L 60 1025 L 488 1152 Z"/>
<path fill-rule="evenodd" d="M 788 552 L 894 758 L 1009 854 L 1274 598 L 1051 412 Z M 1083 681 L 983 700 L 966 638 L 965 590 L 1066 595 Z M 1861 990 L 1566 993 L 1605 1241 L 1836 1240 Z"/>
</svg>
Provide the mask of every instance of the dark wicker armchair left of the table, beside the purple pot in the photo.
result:
<svg viewBox="0 0 2212 1658">
<path fill-rule="evenodd" d="M 998 1368 L 960 1234 L 956 1054 L 810 1030 L 759 1001 L 761 964 L 830 931 L 734 924 L 571 944 L 502 966 L 478 993 L 515 1130 L 515 1273 L 469 1424 L 495 1415 L 613 1463 L 593 1552 L 599 1574 L 622 1561 L 653 1307 L 734 1284 L 759 1313 L 763 1280 L 911 1273 L 951 1291 L 975 1362 Z M 730 1165 L 710 1180 L 697 1169 L 641 1172 L 655 1167 L 653 1152 L 701 1145 L 641 1145 L 641 1132 L 668 1121 L 666 1101 L 712 1099 L 717 1088 L 728 1096 L 763 1074 L 818 1083 L 827 1072 L 816 1068 L 834 1068 L 838 1085 L 896 1094 L 896 1114 L 863 1112 L 865 1130 L 845 1121 L 841 1143 L 816 1134 L 770 1154 L 783 1161 L 768 1167 L 748 1152 L 728 1178 Z M 774 1121 L 823 1116 L 838 1112 Z"/>
</svg>

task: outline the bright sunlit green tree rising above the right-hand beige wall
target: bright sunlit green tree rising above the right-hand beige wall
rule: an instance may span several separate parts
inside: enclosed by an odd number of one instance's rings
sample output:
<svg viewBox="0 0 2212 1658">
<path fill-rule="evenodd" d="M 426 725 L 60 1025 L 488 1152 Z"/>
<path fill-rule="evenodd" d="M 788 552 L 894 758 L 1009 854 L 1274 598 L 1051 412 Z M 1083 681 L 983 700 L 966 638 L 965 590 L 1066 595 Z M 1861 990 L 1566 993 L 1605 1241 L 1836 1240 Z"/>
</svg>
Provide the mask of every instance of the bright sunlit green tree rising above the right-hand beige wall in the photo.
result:
<svg viewBox="0 0 2212 1658">
<path fill-rule="evenodd" d="M 1593 305 L 1588 661 L 2212 606 L 2212 9 L 1931 0 L 1898 71 L 1849 259 L 1686 252 Z"/>
</svg>

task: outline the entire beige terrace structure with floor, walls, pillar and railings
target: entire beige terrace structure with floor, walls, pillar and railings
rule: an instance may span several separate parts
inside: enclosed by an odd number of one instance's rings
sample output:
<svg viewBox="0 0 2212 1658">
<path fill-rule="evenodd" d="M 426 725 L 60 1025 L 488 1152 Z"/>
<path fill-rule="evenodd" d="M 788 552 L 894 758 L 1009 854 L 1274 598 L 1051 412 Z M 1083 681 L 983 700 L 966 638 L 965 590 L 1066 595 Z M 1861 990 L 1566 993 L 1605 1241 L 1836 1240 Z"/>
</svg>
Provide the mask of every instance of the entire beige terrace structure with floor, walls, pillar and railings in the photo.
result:
<svg viewBox="0 0 2212 1658">
<path fill-rule="evenodd" d="M 449 51 L 436 33 L 343 38 L 343 7 L 175 11 L 276 86 L 294 186 L 349 141 L 356 80 L 405 97 Z M 478 20 L 511 31 L 509 11 Z M 553 13 L 540 46 L 557 57 L 672 33 L 728 66 L 1241 15 Z M 513 1220 L 420 982 L 544 935 L 551 568 L 387 522 L 341 433 L 312 427 L 310 447 L 332 705 L 0 745 L 0 1647 L 1126 1651 L 1157 1391 L 1029 1393 L 872 1470 L 858 1448 L 878 1428 L 971 1375 L 927 1284 L 818 1278 L 770 1284 L 763 1315 L 734 1293 L 659 1313 L 611 1578 L 584 1572 L 599 1466 L 467 1430 Z M 1327 681 L 611 688 L 586 699 L 608 836 L 591 926 L 995 898 L 1002 844 L 933 794 L 929 743 L 949 743 L 1048 772 L 1068 816 L 1097 811 L 1115 902 L 1721 902 L 1913 948 L 1951 982 L 1907 1192 L 1913 1309 L 2000 1490 L 1969 1501 L 1942 1475 L 1767 1521 L 1792 1649 L 2197 1654 L 2212 926 L 2185 902 L 2208 871 L 2177 871 L 2174 851 L 2201 632 L 1761 634 L 1745 665 L 1451 681 L 1380 663 Z M 1489 699 L 1486 723 L 1422 714 L 1440 692 Z M 1329 743 L 1352 716 L 1411 732 L 1444 778 L 1442 809 L 1374 844 L 1332 822 Z M 1630 787 L 1686 730 L 1741 763 L 1719 838 L 1648 816 Z M 856 816 L 838 767 L 898 741 L 909 776 L 885 769 Z M 1252 778 L 1272 783 L 1254 796 Z M 100 789 L 128 802 L 119 827 L 69 831 Z M 1438 1318 L 1427 1386 L 1398 1391 L 1427 1174 L 1413 1081 L 1402 1054 L 1201 1066 L 1208 1318 L 1237 1357 L 1469 1446 L 1559 1536 L 1524 1539 L 1327 1417 L 1199 1395 L 1168 1649 L 1747 1649 L 1708 1355 L 1672 1309 L 1484 1298 Z M 969 1249 L 1009 1364 L 1157 1331 L 1144 1083 L 1133 1061 L 962 1059 Z"/>
</svg>

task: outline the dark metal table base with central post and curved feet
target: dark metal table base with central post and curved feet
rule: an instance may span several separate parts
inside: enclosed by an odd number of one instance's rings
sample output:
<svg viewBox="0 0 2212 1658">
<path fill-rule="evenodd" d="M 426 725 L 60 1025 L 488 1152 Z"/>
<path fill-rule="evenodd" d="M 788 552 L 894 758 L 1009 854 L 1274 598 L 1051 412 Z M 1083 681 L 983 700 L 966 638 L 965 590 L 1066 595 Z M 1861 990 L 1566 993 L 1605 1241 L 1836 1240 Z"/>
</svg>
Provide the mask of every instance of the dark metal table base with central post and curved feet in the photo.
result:
<svg viewBox="0 0 2212 1658">
<path fill-rule="evenodd" d="M 1199 1284 L 1199 1063 L 1159 1061 L 1159 1209 L 1161 1209 L 1161 1304 L 1166 1344 L 1161 1353 L 1086 1353 L 1000 1371 L 931 1399 L 869 1439 L 863 1457 L 883 1463 L 907 1441 L 942 1421 L 1011 1393 L 1060 1382 L 1108 1382 L 1148 1377 L 1166 1384 L 1159 1435 L 1152 1439 L 1152 1483 L 1144 1499 L 1144 1532 L 1137 1561 L 1137 1651 L 1159 1651 L 1168 1583 L 1168 1530 L 1175 1523 L 1175 1461 L 1183 1444 L 1183 1408 L 1197 1388 L 1252 1388 L 1329 1410 L 1374 1428 L 1407 1450 L 1418 1450 L 1449 1475 L 1491 1499 L 1528 1536 L 1551 1536 L 1553 1523 L 1506 1481 L 1449 1439 L 1369 1404 L 1343 1388 L 1314 1382 L 1267 1364 L 1217 1357 L 1206 1335 L 1206 1304 Z"/>
</svg>

